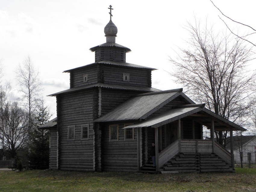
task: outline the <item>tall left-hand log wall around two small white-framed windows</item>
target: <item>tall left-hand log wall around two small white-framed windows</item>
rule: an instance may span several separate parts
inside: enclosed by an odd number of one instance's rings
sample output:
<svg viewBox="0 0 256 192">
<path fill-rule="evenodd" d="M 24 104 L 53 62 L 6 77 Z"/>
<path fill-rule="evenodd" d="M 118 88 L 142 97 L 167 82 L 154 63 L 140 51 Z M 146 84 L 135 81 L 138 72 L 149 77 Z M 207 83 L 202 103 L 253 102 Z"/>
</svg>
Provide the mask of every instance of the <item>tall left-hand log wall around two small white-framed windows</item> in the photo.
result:
<svg viewBox="0 0 256 192">
<path fill-rule="evenodd" d="M 93 128 L 94 98 L 97 89 L 63 94 L 61 97 L 60 169 L 95 170 L 95 130 Z M 81 139 L 81 125 L 89 124 L 89 139 Z M 75 125 L 75 138 L 68 140 L 68 126 Z"/>
</svg>

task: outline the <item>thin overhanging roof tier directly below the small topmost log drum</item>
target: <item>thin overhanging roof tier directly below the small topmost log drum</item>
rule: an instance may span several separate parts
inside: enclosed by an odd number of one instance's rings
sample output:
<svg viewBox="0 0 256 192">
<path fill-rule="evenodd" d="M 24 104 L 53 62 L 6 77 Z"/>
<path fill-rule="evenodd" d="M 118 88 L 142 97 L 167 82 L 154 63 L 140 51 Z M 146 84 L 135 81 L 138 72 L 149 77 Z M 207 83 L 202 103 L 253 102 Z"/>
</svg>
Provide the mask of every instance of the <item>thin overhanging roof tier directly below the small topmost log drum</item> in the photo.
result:
<svg viewBox="0 0 256 192">
<path fill-rule="evenodd" d="M 103 61 L 99 61 L 99 62 L 96 62 L 96 63 L 91 63 L 91 64 L 88 64 L 88 65 L 84 65 L 84 66 L 81 66 L 81 67 L 76 67 L 76 68 L 73 68 L 73 69 L 65 70 L 65 71 L 63 71 L 63 73 L 70 73 L 70 71 L 72 71 L 72 70 L 81 69 L 83 67 L 88 67 L 90 65 L 95 65 L 95 64 L 106 64 L 106 65 L 116 65 L 116 66 L 123 66 L 123 67 L 133 67 L 133 68 L 139 68 L 139 69 L 149 69 L 151 71 L 156 70 L 155 68 L 145 67 L 145 66 L 142 66 L 142 65 L 136 65 L 136 64 L 132 64 L 132 63 L 117 62 L 117 61 L 111 61 L 111 60 L 103 60 Z"/>
</svg>

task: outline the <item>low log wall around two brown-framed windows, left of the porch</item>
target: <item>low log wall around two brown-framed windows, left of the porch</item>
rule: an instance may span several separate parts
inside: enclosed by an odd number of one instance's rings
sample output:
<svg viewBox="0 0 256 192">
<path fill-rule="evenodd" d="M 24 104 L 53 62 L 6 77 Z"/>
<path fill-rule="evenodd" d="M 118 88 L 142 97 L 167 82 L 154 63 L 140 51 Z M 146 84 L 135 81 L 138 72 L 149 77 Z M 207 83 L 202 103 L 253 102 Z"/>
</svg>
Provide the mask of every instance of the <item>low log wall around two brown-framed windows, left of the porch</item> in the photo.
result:
<svg viewBox="0 0 256 192">
<path fill-rule="evenodd" d="M 112 125 L 114 125 L 113 123 Z M 102 127 L 101 165 L 103 171 L 137 171 L 137 131 L 134 140 L 124 140 L 124 124 L 119 124 L 118 141 L 109 141 L 109 125 Z"/>
</svg>

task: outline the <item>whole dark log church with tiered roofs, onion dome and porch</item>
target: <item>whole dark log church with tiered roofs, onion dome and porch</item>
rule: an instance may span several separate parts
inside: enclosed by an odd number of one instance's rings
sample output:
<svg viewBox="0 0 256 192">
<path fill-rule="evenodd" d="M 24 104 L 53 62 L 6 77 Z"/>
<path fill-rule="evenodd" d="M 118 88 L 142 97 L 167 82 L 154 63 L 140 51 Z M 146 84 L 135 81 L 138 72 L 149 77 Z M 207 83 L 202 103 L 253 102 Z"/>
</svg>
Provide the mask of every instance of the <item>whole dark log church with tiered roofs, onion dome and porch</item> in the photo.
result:
<svg viewBox="0 0 256 192">
<path fill-rule="evenodd" d="M 131 50 L 115 42 L 111 16 L 106 43 L 90 48 L 95 62 L 64 71 L 70 88 L 50 95 L 57 100 L 57 118 L 42 126 L 50 130 L 49 169 L 233 172 L 233 150 L 214 141 L 214 130 L 230 131 L 232 141 L 233 131 L 245 129 L 195 104 L 182 88 L 152 88 L 156 69 L 126 62 Z M 211 139 L 203 139 L 203 126 Z"/>
</svg>

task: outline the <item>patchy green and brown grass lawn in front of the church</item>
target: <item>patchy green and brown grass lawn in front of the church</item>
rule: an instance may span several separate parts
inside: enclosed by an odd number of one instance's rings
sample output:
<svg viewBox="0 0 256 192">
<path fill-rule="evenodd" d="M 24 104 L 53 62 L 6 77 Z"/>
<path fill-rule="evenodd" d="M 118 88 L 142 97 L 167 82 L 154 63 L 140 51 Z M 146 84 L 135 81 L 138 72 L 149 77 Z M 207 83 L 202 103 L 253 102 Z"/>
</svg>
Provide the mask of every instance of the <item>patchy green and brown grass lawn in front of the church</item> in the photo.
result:
<svg viewBox="0 0 256 192">
<path fill-rule="evenodd" d="M 256 191 L 256 169 L 236 173 L 0 172 L 0 191 Z"/>
</svg>

